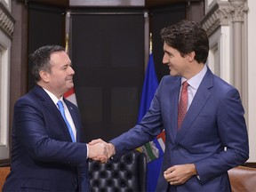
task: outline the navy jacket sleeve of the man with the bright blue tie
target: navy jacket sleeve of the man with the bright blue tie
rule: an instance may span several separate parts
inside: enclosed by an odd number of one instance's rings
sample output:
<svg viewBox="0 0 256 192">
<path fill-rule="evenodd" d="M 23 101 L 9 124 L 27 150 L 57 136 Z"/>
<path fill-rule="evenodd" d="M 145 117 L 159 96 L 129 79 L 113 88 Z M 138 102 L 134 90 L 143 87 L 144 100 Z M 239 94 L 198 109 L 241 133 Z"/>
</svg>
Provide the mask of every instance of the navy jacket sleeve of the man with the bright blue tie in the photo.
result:
<svg viewBox="0 0 256 192">
<path fill-rule="evenodd" d="M 18 100 L 14 106 L 13 135 L 38 161 L 84 163 L 86 143 L 67 141 L 67 128 L 60 124 L 58 109 L 52 105 L 52 110 L 47 110 L 35 100 Z"/>
</svg>

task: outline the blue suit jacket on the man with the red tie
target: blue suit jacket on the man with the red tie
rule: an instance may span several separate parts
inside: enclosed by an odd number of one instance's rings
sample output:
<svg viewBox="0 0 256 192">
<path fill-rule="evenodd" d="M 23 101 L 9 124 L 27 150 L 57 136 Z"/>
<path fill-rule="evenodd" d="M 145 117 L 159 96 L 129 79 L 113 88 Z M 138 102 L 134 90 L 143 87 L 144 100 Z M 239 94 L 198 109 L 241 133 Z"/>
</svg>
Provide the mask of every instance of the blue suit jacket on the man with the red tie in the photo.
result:
<svg viewBox="0 0 256 192">
<path fill-rule="evenodd" d="M 208 68 L 177 132 L 180 77 L 164 76 L 148 113 L 114 140 L 116 157 L 140 147 L 165 130 L 164 160 L 157 183 L 160 191 L 230 191 L 228 169 L 248 159 L 244 108 L 237 90 Z M 164 171 L 176 164 L 196 164 L 199 178 L 170 186 Z"/>
</svg>

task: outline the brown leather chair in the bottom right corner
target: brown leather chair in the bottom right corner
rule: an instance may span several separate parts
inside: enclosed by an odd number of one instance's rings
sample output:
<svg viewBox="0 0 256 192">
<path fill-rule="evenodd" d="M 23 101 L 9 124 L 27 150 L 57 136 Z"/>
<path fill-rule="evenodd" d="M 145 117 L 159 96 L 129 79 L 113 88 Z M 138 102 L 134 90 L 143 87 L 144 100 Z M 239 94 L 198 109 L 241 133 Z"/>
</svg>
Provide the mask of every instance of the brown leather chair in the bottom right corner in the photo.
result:
<svg viewBox="0 0 256 192">
<path fill-rule="evenodd" d="M 228 170 L 232 192 L 256 191 L 256 168 L 237 166 Z"/>
</svg>

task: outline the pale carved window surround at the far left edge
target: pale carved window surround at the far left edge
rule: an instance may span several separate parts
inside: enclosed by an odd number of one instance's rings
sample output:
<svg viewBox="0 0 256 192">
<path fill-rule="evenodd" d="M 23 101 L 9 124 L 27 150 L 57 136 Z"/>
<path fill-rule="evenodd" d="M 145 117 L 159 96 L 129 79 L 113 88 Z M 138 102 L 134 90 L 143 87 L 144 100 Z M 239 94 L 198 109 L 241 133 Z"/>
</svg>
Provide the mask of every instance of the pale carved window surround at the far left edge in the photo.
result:
<svg viewBox="0 0 256 192">
<path fill-rule="evenodd" d="M 4 3 L 4 4 L 3 4 Z M 9 92 L 10 60 L 13 32 L 13 19 L 8 1 L 0 1 L 0 160 L 10 158 L 9 144 Z M 8 10 L 7 10 L 8 9 Z"/>
</svg>

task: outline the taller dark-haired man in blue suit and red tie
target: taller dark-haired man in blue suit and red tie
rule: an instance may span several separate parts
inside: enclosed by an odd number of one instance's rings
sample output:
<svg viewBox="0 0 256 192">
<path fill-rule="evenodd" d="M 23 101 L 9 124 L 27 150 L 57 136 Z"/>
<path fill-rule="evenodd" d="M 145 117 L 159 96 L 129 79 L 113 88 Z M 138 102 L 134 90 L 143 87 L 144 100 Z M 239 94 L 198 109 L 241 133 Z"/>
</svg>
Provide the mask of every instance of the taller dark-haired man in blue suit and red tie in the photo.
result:
<svg viewBox="0 0 256 192">
<path fill-rule="evenodd" d="M 165 151 L 156 191 L 228 192 L 228 170 L 249 157 L 244 108 L 239 92 L 205 65 L 206 32 L 182 20 L 161 31 L 164 76 L 141 122 L 108 143 L 116 157 L 165 130 Z M 181 84 L 188 83 L 186 115 L 178 125 Z M 183 97 L 182 97 L 183 98 Z M 182 99 L 183 100 L 183 99 Z M 92 143 L 102 142 L 93 140 Z M 96 158 L 97 159 L 97 158 Z"/>
</svg>

